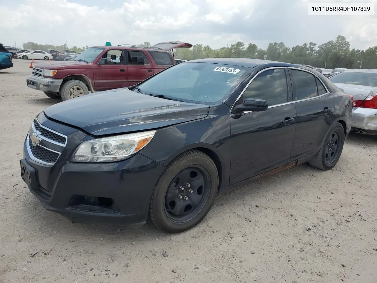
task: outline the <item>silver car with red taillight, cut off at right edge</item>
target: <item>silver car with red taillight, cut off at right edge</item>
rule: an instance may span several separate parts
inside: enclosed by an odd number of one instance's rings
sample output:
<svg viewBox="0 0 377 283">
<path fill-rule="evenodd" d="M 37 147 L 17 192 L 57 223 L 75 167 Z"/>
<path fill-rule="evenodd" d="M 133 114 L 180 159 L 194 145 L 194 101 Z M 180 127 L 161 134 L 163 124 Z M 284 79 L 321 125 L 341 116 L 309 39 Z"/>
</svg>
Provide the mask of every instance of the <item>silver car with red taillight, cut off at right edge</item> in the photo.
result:
<svg viewBox="0 0 377 283">
<path fill-rule="evenodd" d="M 329 78 L 354 97 L 351 127 L 360 134 L 377 134 L 377 69 L 346 70 Z"/>
</svg>

